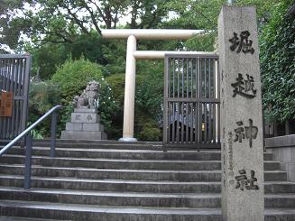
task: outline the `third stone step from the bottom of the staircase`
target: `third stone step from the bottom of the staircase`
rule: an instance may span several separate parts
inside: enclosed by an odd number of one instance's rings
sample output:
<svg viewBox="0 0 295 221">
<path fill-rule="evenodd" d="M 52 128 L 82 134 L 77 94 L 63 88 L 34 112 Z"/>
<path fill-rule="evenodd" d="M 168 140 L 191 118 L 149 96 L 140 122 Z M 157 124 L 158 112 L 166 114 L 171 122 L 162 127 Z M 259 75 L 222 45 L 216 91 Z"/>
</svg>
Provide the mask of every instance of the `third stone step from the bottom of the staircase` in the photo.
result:
<svg viewBox="0 0 295 221">
<path fill-rule="evenodd" d="M 152 193 L 220 193 L 220 182 L 179 182 L 156 180 L 95 180 L 77 178 L 32 177 L 32 188 L 80 189 L 97 191 Z M 0 186 L 23 187 L 23 176 L 0 175 Z M 295 183 L 266 181 L 265 193 L 295 193 Z"/>
</svg>

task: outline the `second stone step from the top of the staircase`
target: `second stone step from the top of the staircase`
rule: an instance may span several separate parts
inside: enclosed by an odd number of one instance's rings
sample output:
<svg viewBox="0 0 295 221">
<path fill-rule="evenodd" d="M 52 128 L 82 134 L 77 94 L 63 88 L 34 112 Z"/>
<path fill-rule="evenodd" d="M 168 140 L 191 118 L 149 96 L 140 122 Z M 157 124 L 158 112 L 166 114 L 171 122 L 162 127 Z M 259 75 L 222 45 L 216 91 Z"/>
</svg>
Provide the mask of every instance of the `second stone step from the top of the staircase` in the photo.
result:
<svg viewBox="0 0 295 221">
<path fill-rule="evenodd" d="M 15 147 L 9 154 L 23 155 L 23 148 Z M 49 156 L 50 148 L 33 147 L 33 155 Z M 148 150 L 107 150 L 107 149 L 85 149 L 78 148 L 57 148 L 56 157 L 74 158 L 111 158 L 111 159 L 134 159 L 134 160 L 194 160 L 194 161 L 218 161 L 221 159 L 221 152 L 218 151 L 148 151 Z M 264 161 L 272 161 L 272 153 L 264 153 Z"/>
</svg>

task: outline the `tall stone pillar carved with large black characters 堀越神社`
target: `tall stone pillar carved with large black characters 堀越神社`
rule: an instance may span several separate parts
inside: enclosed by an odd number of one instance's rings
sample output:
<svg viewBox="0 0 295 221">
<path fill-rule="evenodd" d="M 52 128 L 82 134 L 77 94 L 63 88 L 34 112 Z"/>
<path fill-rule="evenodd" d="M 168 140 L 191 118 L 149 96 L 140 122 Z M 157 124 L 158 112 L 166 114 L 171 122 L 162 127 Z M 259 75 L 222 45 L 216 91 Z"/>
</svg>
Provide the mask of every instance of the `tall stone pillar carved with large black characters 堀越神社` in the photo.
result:
<svg viewBox="0 0 295 221">
<path fill-rule="evenodd" d="M 222 213 L 263 221 L 263 115 L 255 7 L 223 6 L 218 18 Z"/>
</svg>

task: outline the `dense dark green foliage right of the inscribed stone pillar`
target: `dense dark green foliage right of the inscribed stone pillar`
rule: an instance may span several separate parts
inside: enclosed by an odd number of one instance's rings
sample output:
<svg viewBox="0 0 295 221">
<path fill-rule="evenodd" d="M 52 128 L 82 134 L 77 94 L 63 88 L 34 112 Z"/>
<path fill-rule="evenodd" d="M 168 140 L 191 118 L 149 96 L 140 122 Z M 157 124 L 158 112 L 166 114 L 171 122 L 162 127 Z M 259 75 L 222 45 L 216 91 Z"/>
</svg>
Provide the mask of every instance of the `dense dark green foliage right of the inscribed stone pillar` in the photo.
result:
<svg viewBox="0 0 295 221">
<path fill-rule="evenodd" d="M 295 118 L 295 17 L 286 15 L 291 3 L 272 9 L 261 37 L 263 107 L 272 122 Z"/>
</svg>

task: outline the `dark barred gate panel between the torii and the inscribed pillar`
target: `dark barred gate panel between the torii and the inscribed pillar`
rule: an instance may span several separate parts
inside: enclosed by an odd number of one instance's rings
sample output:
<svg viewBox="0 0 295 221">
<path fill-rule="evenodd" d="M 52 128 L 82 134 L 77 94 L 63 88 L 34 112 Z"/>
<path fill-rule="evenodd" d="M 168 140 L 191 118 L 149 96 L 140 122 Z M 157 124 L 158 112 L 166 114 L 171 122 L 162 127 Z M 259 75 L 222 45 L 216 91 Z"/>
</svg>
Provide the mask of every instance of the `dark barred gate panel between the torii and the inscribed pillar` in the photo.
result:
<svg viewBox="0 0 295 221">
<path fill-rule="evenodd" d="M 166 54 L 163 145 L 220 148 L 218 55 Z"/>
</svg>

